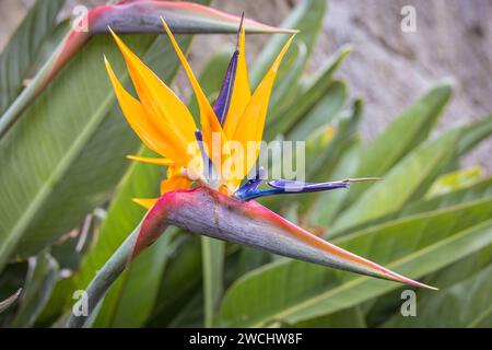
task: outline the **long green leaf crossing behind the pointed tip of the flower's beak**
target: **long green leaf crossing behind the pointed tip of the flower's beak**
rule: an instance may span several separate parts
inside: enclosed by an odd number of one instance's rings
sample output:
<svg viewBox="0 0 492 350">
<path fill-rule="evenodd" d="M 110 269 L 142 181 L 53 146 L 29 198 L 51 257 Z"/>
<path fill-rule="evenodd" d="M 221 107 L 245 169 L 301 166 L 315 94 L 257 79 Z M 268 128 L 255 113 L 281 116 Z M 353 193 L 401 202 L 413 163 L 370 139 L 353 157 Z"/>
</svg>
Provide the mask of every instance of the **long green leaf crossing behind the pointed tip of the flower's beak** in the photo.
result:
<svg viewBox="0 0 492 350">
<path fill-rule="evenodd" d="M 491 244 L 491 199 L 479 200 L 397 220 L 333 243 L 411 278 L 421 278 Z M 260 326 L 274 320 L 296 324 L 397 288 L 301 261 L 280 261 L 239 279 L 224 296 L 221 320 L 225 326 Z"/>
</svg>

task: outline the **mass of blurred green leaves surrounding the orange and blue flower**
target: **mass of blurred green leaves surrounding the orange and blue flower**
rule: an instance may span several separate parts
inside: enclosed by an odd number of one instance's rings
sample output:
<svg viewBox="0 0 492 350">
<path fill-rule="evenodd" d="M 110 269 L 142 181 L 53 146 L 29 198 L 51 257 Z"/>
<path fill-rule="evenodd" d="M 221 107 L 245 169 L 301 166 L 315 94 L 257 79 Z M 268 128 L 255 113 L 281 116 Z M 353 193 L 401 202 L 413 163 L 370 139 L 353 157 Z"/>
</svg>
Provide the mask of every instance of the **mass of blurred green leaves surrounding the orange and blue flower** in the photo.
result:
<svg viewBox="0 0 492 350">
<path fill-rule="evenodd" d="M 349 101 L 349 82 L 336 78 L 351 48 L 341 48 L 316 74 L 303 73 L 325 13 L 325 1 L 305 0 L 283 24 L 301 34 L 276 82 L 266 139 L 306 140 L 308 180 L 384 180 L 263 203 L 343 248 L 441 291 L 415 291 L 418 317 L 402 317 L 406 287 L 169 229 L 112 287 L 93 326 L 491 325 L 492 179 L 478 168 L 460 170 L 459 160 L 489 138 L 492 116 L 432 133 L 452 95 L 452 84 L 441 81 L 402 108 L 376 139 L 363 140 L 363 101 Z M 33 13 L 25 21 L 38 18 Z M 52 21 L 52 13 L 45 21 Z M 56 30 L 40 25 L 48 33 Z M 273 35 L 250 65 L 253 84 L 285 39 Z M 126 40 L 172 81 L 179 66 L 168 43 L 152 36 Z M 189 44 L 189 37 L 181 38 L 183 47 Z M 3 326 L 60 325 L 71 311 L 73 292 L 86 287 L 142 218 L 143 210 L 130 198 L 155 195 L 164 175 L 155 166 L 124 160 L 127 153 L 149 151 L 115 107 L 103 54 L 124 72 L 109 38 L 91 42 L 0 140 L 0 301 L 24 287 L 16 303 L 1 304 Z M 201 72 L 209 96 L 216 96 L 216 78 L 227 63 L 229 56 L 220 51 Z M 1 79 L 3 83 L 5 77 Z M 329 130 L 335 136 L 327 139 Z M 5 232 L 19 235 L 19 242 L 10 243 Z"/>
</svg>

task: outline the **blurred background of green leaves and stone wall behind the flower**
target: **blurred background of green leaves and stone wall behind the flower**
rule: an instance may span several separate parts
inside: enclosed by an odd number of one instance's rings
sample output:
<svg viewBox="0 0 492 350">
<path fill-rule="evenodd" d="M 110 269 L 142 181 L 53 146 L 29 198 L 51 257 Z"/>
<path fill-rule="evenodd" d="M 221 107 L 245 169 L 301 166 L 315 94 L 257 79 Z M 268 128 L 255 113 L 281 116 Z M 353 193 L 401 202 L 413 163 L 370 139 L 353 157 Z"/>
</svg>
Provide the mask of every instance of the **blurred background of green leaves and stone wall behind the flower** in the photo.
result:
<svg viewBox="0 0 492 350">
<path fill-rule="evenodd" d="M 0 107 L 14 110 L 0 121 L 28 105 L 0 135 L 0 327 L 65 325 L 74 291 L 86 288 L 145 214 L 131 198 L 155 198 L 165 177 L 165 168 L 125 158 L 153 153 L 114 104 L 103 55 L 128 77 L 113 38 L 92 38 L 28 103 L 45 77 L 40 71 L 32 80 L 32 72 L 70 24 L 61 20 L 75 5 L 93 9 L 106 1 L 37 0 L 32 7 L 32 0 L 0 0 L 0 78 L 7 82 Z M 224 12 L 303 28 L 277 77 L 263 138 L 307 140 L 311 182 L 384 182 L 260 202 L 440 293 L 415 291 L 419 317 L 402 317 L 407 287 L 169 228 L 113 284 L 86 326 L 492 325 L 492 0 L 331 0 L 324 15 L 325 4 L 211 2 Z M 156 14 L 154 3 L 143 5 Z M 412 32 L 402 30 L 408 7 L 415 12 Z M 189 28 L 179 18 L 181 24 Z M 179 39 L 181 47 L 190 43 Z M 248 35 L 253 84 L 285 39 Z M 180 63 L 167 38 L 125 40 L 197 115 L 184 72 L 174 79 Z M 235 42 L 236 34 L 197 35 L 191 45 L 191 66 L 211 101 Z M 347 56 L 348 44 L 355 51 Z M 444 78 L 454 80 L 454 89 Z M 20 287 L 22 294 L 13 294 Z M 8 310 L 1 303 L 7 299 Z"/>
</svg>

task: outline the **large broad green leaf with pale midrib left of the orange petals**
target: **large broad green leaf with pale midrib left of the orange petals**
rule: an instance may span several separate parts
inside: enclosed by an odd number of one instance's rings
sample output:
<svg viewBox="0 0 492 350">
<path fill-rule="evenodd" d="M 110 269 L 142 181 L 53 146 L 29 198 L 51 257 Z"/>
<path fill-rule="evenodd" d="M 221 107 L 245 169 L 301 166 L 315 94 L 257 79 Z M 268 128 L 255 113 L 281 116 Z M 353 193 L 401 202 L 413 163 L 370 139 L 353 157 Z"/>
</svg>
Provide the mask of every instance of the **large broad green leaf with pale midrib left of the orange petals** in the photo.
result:
<svg viewBox="0 0 492 350">
<path fill-rule="evenodd" d="M 127 42 L 164 80 L 174 75 L 178 59 L 168 40 Z M 138 148 L 114 108 L 103 54 L 128 81 L 113 40 L 94 38 L 0 141 L 0 270 L 13 253 L 39 252 L 105 201 L 128 166 L 125 155 Z"/>
</svg>

